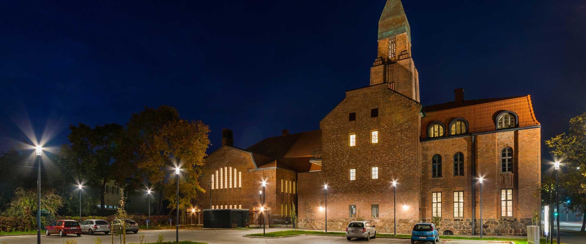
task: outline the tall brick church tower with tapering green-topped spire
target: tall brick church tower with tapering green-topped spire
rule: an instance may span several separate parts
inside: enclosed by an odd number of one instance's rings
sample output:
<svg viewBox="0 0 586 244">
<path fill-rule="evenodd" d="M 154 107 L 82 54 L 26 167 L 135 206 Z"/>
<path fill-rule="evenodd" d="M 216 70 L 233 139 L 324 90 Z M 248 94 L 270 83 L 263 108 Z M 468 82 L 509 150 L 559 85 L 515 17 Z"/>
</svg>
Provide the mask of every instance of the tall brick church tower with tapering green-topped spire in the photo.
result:
<svg viewBox="0 0 586 244">
<path fill-rule="evenodd" d="M 378 43 L 370 85 L 390 83 L 393 90 L 419 101 L 419 74 L 411 59 L 411 29 L 400 0 L 387 0 L 384 5 Z"/>
</svg>

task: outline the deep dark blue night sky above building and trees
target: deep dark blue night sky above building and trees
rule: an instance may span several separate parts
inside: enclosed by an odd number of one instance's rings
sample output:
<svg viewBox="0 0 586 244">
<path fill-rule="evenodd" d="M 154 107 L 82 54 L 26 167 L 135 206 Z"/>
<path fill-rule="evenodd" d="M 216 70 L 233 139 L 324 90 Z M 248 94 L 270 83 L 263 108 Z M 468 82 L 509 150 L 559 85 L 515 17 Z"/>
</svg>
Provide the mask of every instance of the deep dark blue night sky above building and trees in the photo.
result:
<svg viewBox="0 0 586 244">
<path fill-rule="evenodd" d="M 247 147 L 319 129 L 369 85 L 373 1 L 0 3 L 0 150 L 68 126 L 128 122 L 145 106 L 222 128 Z M 542 139 L 586 111 L 586 2 L 403 1 L 421 102 L 532 96 Z M 25 129 L 22 129 L 25 128 Z M 543 146 L 544 159 L 550 159 Z M 546 158 L 547 157 L 547 158 Z"/>
</svg>

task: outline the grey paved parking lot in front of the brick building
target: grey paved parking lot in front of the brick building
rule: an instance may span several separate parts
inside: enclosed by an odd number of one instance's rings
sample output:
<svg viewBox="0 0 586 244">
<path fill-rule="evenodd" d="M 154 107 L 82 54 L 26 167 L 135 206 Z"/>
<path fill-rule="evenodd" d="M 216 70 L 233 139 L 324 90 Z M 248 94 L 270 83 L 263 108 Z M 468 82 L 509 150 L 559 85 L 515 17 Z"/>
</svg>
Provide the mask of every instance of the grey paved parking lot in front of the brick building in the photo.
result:
<svg viewBox="0 0 586 244">
<path fill-rule="evenodd" d="M 283 231 L 284 229 L 270 229 L 272 231 Z M 346 240 L 346 238 L 338 236 L 294 236 L 290 238 L 279 238 L 279 239 L 258 239 L 258 238 L 244 238 L 243 235 L 249 233 L 262 233 L 263 230 L 255 229 L 253 231 L 230 231 L 230 230 L 180 230 L 179 240 L 192 240 L 194 242 L 206 242 L 210 244 L 248 244 L 248 243 L 283 243 L 283 244 L 298 244 L 298 243 L 366 243 L 364 240 Z M 161 230 L 161 231 L 139 231 L 135 233 L 127 233 L 127 243 L 138 243 L 139 236 L 145 235 L 145 240 L 148 242 L 155 242 L 158 235 L 163 235 L 165 240 L 175 240 L 175 230 Z M 66 237 L 60 237 L 58 235 L 41 236 L 41 242 L 47 244 L 62 244 L 63 240 L 76 239 L 77 244 L 94 244 L 94 240 L 100 238 L 102 243 L 111 243 L 111 235 L 104 235 L 96 233 L 94 235 L 68 235 Z M 114 243 L 120 243 L 118 236 L 114 236 Z M 4 236 L 0 237 L 0 243 L 6 242 L 6 244 L 36 244 L 36 235 L 30 236 Z M 407 244 L 411 243 L 407 239 L 371 239 L 368 243 L 380 243 L 380 244 Z M 418 242 L 421 244 L 431 244 L 431 242 Z M 483 242 L 470 241 L 470 240 L 442 240 L 442 244 L 481 244 Z M 484 242 L 489 243 L 489 242 Z M 494 244 L 495 242 L 490 242 Z"/>
</svg>

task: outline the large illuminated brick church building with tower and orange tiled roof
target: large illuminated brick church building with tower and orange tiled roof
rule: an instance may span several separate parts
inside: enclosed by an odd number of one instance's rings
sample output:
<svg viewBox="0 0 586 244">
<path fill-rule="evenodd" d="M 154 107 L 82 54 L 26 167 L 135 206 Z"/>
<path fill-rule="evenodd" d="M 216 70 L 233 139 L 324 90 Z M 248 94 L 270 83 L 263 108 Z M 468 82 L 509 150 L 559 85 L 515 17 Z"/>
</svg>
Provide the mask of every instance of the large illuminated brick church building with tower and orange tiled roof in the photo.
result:
<svg viewBox="0 0 586 244">
<path fill-rule="evenodd" d="M 401 2 L 388 0 L 369 86 L 346 91 L 320 130 L 284 130 L 247 149 L 233 147 L 225 130 L 200 182 L 237 168 L 246 187 L 216 187 L 212 206 L 252 209 L 268 180 L 265 207 L 286 214 L 294 202 L 302 229 L 325 227 L 328 184 L 328 229 L 367 219 L 393 232 L 396 217 L 397 233 L 409 233 L 435 216 L 442 232 L 471 235 L 480 231 L 482 177 L 486 235 L 526 235 L 541 202 L 541 126 L 530 96 L 466 100 L 464 89 L 454 91 L 454 101 L 421 105 L 410 26 Z M 282 192 L 284 184 L 292 189 Z M 208 208 L 209 193 L 198 202 Z"/>
</svg>

